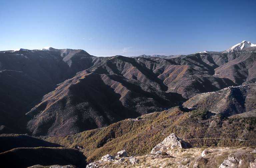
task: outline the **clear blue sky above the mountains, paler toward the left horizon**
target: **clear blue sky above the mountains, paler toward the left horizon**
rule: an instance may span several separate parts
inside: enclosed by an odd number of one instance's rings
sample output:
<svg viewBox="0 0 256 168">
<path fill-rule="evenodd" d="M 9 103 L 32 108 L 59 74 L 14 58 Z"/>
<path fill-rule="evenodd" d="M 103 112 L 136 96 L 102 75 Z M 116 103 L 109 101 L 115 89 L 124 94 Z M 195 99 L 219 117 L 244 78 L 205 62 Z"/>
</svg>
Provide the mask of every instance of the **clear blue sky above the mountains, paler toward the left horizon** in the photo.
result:
<svg viewBox="0 0 256 168">
<path fill-rule="evenodd" d="M 0 0 L 0 50 L 178 55 L 256 43 L 256 0 Z"/>
</svg>

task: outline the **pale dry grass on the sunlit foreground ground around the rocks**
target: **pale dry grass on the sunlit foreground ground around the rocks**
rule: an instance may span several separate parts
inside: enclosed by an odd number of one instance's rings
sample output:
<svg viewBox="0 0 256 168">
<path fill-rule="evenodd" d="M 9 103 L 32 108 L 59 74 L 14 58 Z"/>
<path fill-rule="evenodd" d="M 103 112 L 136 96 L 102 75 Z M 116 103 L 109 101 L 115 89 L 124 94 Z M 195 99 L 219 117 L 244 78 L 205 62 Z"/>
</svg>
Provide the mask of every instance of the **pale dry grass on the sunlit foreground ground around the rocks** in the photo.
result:
<svg viewBox="0 0 256 168">
<path fill-rule="evenodd" d="M 250 152 L 253 148 L 207 148 L 209 153 L 205 157 L 201 157 L 203 148 L 190 149 L 175 149 L 171 151 L 171 157 L 154 157 L 144 155 L 136 157 L 139 160 L 138 164 L 131 164 L 128 160 L 121 164 L 113 162 L 98 163 L 100 167 L 105 168 L 177 168 L 179 165 L 193 168 L 197 161 L 200 168 L 218 168 L 220 164 L 228 158 L 229 155 L 234 155 L 236 158 L 243 160 L 241 168 L 248 167 L 250 162 L 256 158 L 255 154 Z M 190 157 L 188 157 L 190 156 Z"/>
</svg>

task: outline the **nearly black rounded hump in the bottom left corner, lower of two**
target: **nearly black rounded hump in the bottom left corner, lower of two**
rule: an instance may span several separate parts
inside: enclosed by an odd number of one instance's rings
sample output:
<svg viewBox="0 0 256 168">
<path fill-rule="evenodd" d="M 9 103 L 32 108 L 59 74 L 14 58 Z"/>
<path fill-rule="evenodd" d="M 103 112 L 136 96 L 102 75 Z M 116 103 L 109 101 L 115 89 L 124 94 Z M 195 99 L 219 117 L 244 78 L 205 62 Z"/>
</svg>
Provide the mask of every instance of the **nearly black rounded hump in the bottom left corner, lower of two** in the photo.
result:
<svg viewBox="0 0 256 168">
<path fill-rule="evenodd" d="M 86 157 L 76 149 L 67 148 L 15 148 L 0 153 L 2 168 L 26 168 L 33 165 L 86 166 Z"/>
</svg>

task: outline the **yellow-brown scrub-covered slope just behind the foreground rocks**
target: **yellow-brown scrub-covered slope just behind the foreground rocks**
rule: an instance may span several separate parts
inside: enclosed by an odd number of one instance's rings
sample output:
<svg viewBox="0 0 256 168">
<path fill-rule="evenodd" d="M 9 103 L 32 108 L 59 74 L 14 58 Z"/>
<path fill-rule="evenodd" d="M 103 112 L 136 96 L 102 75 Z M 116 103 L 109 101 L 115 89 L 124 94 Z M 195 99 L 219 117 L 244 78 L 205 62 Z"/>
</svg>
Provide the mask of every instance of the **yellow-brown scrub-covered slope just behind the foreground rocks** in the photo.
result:
<svg viewBox="0 0 256 168">
<path fill-rule="evenodd" d="M 153 147 L 170 133 L 176 133 L 193 147 L 256 146 L 256 141 L 221 139 L 255 140 L 256 123 L 252 117 L 229 119 L 221 115 L 209 116 L 205 110 L 188 112 L 180 107 L 174 107 L 140 118 L 140 121 L 126 119 L 101 129 L 66 137 L 48 137 L 45 140 L 71 148 L 76 145 L 83 146 L 84 149 L 81 151 L 87 156 L 89 163 L 99 160 L 106 154 L 116 155 L 123 149 L 134 156 L 149 154 Z M 249 128 L 249 132 L 241 134 L 245 128 Z M 191 156 L 187 154 L 185 157 Z"/>
</svg>

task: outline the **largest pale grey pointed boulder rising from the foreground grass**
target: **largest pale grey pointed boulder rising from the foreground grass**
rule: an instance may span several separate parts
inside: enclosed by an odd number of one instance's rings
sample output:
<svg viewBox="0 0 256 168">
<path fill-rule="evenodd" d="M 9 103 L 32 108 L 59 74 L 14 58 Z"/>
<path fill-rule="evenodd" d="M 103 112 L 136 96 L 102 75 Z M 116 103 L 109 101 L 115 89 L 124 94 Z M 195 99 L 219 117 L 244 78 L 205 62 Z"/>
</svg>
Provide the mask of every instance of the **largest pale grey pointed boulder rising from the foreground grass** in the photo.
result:
<svg viewBox="0 0 256 168">
<path fill-rule="evenodd" d="M 178 138 L 174 133 L 166 137 L 162 142 L 157 144 L 150 152 L 151 155 L 169 154 L 168 150 L 173 148 L 188 148 L 190 145 Z"/>
</svg>

